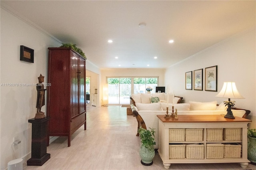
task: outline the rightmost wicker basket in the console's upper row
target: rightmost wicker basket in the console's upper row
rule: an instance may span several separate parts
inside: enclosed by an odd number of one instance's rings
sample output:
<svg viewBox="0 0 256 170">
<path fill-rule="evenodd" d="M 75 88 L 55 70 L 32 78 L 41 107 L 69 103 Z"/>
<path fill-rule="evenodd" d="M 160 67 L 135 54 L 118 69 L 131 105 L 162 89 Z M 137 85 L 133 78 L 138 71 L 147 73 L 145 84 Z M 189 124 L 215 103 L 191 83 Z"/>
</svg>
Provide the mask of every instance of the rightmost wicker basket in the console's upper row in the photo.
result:
<svg viewBox="0 0 256 170">
<path fill-rule="evenodd" d="M 227 141 L 242 140 L 242 128 L 224 128 L 223 139 Z"/>
</svg>

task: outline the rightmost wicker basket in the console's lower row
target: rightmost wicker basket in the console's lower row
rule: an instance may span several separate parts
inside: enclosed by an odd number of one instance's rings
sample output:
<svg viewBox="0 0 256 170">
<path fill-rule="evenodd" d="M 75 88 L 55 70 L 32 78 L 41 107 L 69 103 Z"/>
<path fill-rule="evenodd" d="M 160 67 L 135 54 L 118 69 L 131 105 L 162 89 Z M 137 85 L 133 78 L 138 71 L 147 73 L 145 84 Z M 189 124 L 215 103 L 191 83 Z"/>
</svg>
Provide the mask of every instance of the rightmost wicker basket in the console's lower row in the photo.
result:
<svg viewBox="0 0 256 170">
<path fill-rule="evenodd" d="M 224 144 L 224 158 L 241 158 L 242 145 L 238 143 Z"/>
</svg>

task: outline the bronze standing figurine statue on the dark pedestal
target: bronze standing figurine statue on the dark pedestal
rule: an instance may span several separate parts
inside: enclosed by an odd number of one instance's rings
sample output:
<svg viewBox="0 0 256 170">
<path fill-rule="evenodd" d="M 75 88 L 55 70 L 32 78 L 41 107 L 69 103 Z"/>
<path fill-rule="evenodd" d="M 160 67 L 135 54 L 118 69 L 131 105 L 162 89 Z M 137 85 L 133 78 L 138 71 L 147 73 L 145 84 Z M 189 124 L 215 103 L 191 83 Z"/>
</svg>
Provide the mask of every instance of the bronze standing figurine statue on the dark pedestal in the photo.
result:
<svg viewBox="0 0 256 170">
<path fill-rule="evenodd" d="M 41 111 L 42 106 L 45 105 L 45 97 L 44 97 L 44 76 L 40 74 L 38 77 L 38 83 L 36 84 L 37 91 L 37 99 L 36 99 L 36 116 L 35 119 L 43 119 L 45 117 L 44 112 Z"/>
</svg>

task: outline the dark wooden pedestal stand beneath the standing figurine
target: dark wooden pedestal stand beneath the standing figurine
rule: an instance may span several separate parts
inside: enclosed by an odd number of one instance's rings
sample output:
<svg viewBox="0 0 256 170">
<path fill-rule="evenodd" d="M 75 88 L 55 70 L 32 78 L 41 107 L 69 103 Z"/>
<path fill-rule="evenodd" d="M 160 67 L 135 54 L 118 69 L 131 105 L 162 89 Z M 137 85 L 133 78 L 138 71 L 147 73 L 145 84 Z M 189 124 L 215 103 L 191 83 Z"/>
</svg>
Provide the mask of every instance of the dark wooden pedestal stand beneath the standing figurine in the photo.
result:
<svg viewBox="0 0 256 170">
<path fill-rule="evenodd" d="M 28 120 L 32 123 L 31 158 L 27 161 L 28 166 L 42 166 L 50 159 L 50 154 L 46 153 L 49 119 L 50 117 Z"/>
</svg>

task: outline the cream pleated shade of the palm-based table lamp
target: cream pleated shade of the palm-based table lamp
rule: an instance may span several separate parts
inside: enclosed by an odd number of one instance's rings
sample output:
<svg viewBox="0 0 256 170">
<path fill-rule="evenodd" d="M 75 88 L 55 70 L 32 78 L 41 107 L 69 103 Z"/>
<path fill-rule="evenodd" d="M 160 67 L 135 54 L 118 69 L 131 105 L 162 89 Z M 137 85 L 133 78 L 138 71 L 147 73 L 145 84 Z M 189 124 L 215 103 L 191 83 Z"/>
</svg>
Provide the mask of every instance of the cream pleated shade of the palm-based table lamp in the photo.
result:
<svg viewBox="0 0 256 170">
<path fill-rule="evenodd" d="M 232 98 L 232 99 L 244 99 L 238 92 L 235 82 L 224 82 L 223 87 L 218 95 L 215 97 Z"/>
</svg>

